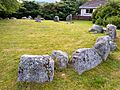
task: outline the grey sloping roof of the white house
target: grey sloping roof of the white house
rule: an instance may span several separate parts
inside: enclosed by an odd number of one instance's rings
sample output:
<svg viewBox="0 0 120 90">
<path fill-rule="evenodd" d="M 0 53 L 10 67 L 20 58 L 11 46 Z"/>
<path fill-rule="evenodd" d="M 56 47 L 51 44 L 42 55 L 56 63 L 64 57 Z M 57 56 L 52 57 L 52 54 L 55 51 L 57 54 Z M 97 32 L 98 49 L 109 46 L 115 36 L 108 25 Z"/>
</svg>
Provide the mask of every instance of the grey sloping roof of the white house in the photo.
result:
<svg viewBox="0 0 120 90">
<path fill-rule="evenodd" d="M 97 8 L 104 5 L 107 0 L 89 0 L 88 2 L 81 5 L 79 8 Z"/>
</svg>

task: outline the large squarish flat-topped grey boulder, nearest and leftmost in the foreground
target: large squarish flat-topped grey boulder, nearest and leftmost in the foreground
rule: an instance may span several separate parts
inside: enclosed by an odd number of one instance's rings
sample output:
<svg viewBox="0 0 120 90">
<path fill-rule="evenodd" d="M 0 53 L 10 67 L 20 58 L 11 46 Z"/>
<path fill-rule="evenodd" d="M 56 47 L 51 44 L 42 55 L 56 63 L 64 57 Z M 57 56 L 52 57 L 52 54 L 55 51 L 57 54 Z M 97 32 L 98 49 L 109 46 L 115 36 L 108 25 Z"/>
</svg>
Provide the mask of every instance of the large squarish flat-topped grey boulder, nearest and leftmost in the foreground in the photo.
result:
<svg viewBox="0 0 120 90">
<path fill-rule="evenodd" d="M 23 55 L 20 59 L 18 81 L 49 82 L 54 76 L 54 61 L 48 55 Z"/>
</svg>

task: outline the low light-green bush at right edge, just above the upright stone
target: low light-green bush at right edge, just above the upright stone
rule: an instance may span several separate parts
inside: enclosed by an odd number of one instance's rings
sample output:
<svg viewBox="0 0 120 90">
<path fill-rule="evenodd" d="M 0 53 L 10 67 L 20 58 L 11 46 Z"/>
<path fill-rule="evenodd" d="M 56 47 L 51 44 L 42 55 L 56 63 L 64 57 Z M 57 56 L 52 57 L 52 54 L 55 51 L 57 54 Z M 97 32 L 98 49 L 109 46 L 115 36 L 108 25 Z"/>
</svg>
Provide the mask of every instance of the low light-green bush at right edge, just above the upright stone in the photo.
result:
<svg viewBox="0 0 120 90">
<path fill-rule="evenodd" d="M 107 20 L 104 23 L 104 26 L 106 26 L 107 24 L 114 24 L 117 26 L 118 29 L 120 29 L 120 17 L 112 16 L 107 18 Z"/>
</svg>

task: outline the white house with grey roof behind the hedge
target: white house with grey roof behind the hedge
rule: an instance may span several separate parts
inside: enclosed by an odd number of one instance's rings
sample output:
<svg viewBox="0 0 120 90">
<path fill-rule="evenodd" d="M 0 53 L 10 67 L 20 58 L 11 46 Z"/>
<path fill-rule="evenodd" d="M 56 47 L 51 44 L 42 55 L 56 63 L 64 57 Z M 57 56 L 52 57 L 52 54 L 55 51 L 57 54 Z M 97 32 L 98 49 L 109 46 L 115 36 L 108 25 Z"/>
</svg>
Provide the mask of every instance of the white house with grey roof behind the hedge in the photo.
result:
<svg viewBox="0 0 120 90">
<path fill-rule="evenodd" d="M 74 18 L 91 20 L 92 13 L 95 11 L 95 9 L 101 5 L 104 5 L 106 2 L 107 0 L 89 0 L 79 7 L 80 14 L 76 15 Z"/>
</svg>

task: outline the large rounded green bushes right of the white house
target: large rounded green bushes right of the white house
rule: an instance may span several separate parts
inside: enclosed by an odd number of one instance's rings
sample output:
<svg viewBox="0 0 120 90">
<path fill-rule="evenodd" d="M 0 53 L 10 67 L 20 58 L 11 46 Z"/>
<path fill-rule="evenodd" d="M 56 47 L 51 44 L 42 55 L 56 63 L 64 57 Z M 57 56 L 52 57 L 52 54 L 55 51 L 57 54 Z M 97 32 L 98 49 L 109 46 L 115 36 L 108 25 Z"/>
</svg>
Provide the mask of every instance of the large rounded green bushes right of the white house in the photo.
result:
<svg viewBox="0 0 120 90">
<path fill-rule="evenodd" d="M 120 2 L 111 2 L 97 8 L 92 15 L 92 22 L 98 25 L 114 24 L 120 28 Z"/>
</svg>

